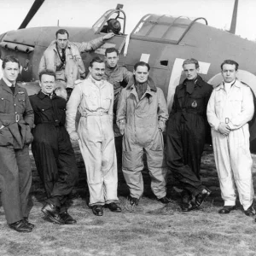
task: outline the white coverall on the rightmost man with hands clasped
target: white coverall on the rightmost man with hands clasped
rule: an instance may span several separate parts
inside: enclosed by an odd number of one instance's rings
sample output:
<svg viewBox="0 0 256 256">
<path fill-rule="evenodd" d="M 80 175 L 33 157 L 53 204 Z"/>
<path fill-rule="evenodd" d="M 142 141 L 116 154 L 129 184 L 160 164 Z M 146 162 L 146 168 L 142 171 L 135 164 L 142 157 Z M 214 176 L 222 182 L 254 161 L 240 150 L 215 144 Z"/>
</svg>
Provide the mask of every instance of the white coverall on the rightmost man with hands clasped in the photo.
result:
<svg viewBox="0 0 256 256">
<path fill-rule="evenodd" d="M 247 84 L 236 79 L 228 92 L 224 84 L 212 91 L 207 119 L 212 127 L 212 145 L 224 206 L 236 205 L 235 183 L 244 210 L 253 203 L 253 160 L 247 124 L 253 113 L 253 94 Z M 230 126 L 228 136 L 218 131 L 221 122 Z"/>
</svg>

